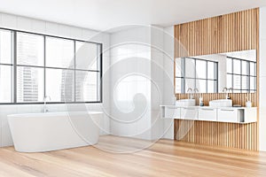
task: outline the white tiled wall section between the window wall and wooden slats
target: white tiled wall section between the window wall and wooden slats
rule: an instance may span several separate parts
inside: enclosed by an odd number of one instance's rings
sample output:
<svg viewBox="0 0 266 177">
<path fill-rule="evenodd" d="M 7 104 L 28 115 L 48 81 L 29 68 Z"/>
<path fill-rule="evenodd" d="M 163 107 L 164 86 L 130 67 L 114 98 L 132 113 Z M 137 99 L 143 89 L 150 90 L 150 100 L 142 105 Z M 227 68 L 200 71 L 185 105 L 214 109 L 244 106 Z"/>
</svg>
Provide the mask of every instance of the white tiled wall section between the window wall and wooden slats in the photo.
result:
<svg viewBox="0 0 266 177">
<path fill-rule="evenodd" d="M 174 35 L 173 27 L 168 29 Z M 156 140 L 162 137 L 173 138 L 172 121 L 160 119 L 160 104 L 165 101 L 164 89 L 172 89 L 174 96 L 173 73 L 169 74 L 170 82 L 165 82 L 165 68 L 173 72 L 173 63 L 165 60 L 165 33 L 161 27 L 127 27 L 111 35 L 111 114 L 110 129 L 113 135 L 130 136 Z M 174 54 L 173 38 L 167 46 L 170 56 Z M 123 63 L 125 62 L 125 63 Z M 120 79 L 129 73 L 145 75 Z M 117 89 L 118 88 L 118 89 Z M 137 96 L 141 93 L 145 97 Z M 134 96 L 136 96 L 134 98 Z M 172 99 L 172 98 L 171 98 Z M 145 110 L 141 108 L 146 108 Z M 139 117 L 142 112 L 144 114 Z M 133 121 L 131 121 L 133 120 Z M 131 122 L 129 122 L 131 121 Z M 164 123 L 164 122 L 167 123 Z M 166 128 L 165 128 L 166 127 Z"/>
</svg>

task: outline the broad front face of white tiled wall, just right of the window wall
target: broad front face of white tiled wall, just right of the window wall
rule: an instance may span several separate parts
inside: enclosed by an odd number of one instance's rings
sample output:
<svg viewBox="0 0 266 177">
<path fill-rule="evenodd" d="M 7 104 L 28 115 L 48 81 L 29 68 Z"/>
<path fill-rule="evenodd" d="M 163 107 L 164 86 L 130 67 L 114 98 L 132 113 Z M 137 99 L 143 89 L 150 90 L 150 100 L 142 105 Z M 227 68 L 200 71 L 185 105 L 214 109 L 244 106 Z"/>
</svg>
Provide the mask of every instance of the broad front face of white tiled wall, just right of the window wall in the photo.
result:
<svg viewBox="0 0 266 177">
<path fill-rule="evenodd" d="M 129 27 L 111 35 L 110 94 L 113 119 L 110 130 L 113 135 L 150 139 L 147 130 L 151 126 L 151 83 L 149 79 L 134 74 L 150 76 L 150 34 L 149 27 Z M 121 79 L 130 73 L 132 75 Z"/>
</svg>

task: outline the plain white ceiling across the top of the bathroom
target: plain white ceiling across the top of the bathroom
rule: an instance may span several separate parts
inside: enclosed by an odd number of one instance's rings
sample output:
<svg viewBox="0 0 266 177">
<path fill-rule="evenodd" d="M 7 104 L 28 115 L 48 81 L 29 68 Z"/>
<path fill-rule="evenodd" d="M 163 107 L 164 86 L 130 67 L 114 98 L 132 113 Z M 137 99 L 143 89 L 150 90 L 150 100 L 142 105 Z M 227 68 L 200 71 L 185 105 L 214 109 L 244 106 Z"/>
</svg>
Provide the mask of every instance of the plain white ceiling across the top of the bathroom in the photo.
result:
<svg viewBox="0 0 266 177">
<path fill-rule="evenodd" d="M 0 0 L 0 12 L 107 30 L 132 24 L 167 27 L 264 5 L 266 0 Z"/>
</svg>

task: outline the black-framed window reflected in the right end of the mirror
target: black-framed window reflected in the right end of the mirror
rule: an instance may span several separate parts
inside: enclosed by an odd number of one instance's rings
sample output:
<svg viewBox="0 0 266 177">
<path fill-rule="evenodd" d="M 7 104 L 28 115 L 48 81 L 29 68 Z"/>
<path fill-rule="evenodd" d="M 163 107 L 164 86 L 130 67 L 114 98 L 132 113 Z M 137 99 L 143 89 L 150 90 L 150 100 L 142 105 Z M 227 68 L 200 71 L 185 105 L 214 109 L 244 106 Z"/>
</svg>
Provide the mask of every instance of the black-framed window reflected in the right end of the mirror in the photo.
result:
<svg viewBox="0 0 266 177">
<path fill-rule="evenodd" d="M 256 91 L 256 63 L 241 58 L 227 57 L 227 88 L 234 93 Z"/>
</svg>

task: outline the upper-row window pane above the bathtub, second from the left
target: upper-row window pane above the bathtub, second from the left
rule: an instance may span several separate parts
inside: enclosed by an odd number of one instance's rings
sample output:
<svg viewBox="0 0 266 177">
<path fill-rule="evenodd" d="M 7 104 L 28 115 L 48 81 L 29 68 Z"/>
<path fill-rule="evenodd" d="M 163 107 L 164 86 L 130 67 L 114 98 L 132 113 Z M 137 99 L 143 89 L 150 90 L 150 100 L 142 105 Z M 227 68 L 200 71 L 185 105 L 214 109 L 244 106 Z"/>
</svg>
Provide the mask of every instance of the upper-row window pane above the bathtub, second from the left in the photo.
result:
<svg viewBox="0 0 266 177">
<path fill-rule="evenodd" d="M 44 65 L 44 37 L 18 33 L 18 65 Z"/>
</svg>

